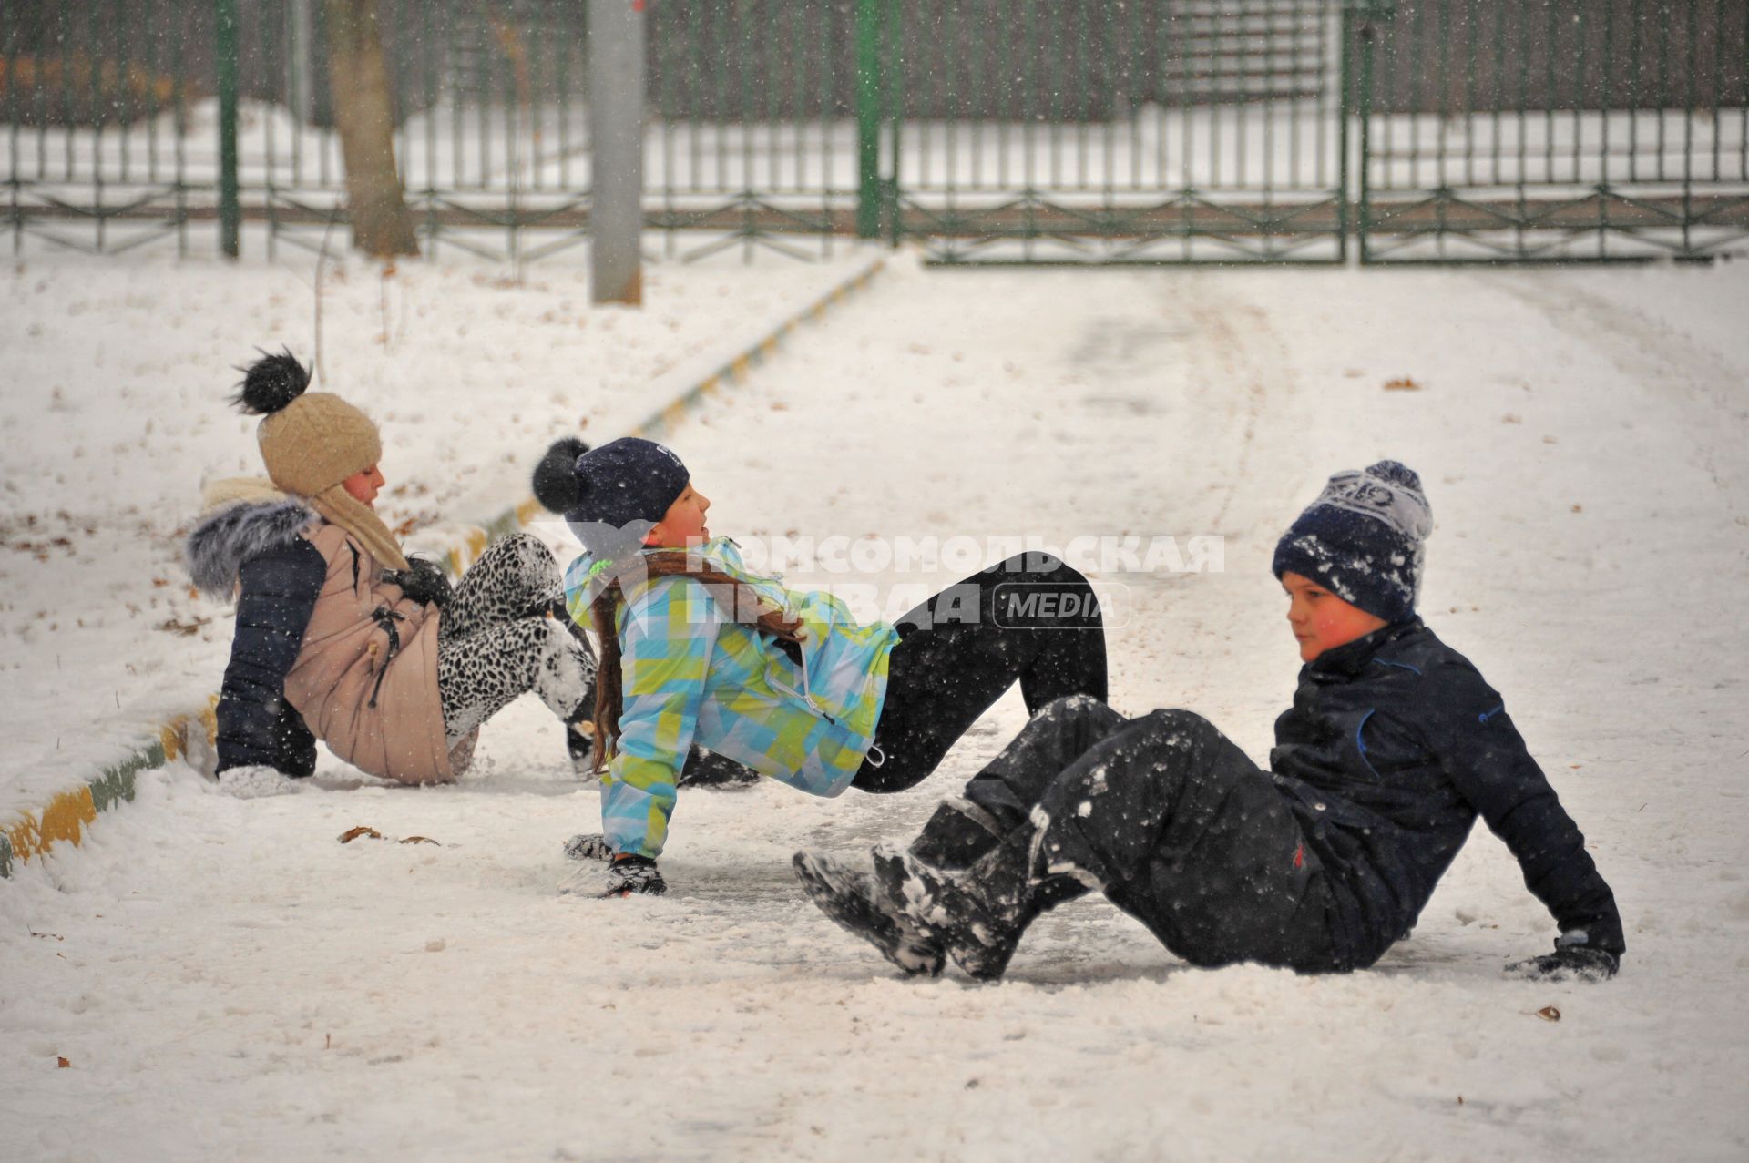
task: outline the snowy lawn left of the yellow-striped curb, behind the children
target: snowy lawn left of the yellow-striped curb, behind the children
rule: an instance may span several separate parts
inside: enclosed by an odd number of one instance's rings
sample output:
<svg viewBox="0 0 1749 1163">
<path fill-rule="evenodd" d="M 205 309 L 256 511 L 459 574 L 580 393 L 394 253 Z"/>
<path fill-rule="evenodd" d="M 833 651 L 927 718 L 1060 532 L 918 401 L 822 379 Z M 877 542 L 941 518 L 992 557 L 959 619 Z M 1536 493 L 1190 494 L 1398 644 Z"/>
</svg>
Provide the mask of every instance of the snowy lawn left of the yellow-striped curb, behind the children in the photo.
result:
<svg viewBox="0 0 1749 1163">
<path fill-rule="evenodd" d="M 322 276 L 313 387 L 381 425 L 380 507 L 401 530 L 497 516 L 554 435 L 621 435 L 874 257 L 651 264 L 638 311 L 591 306 L 586 250 L 521 285 L 444 254 L 392 278 L 331 255 Z M 178 262 L 164 243 L 0 268 L 0 815 L 219 689 L 229 619 L 189 593 L 182 533 L 203 479 L 262 476 L 234 367 L 257 346 L 313 360 L 317 262 L 283 243 L 276 262 Z"/>
</svg>

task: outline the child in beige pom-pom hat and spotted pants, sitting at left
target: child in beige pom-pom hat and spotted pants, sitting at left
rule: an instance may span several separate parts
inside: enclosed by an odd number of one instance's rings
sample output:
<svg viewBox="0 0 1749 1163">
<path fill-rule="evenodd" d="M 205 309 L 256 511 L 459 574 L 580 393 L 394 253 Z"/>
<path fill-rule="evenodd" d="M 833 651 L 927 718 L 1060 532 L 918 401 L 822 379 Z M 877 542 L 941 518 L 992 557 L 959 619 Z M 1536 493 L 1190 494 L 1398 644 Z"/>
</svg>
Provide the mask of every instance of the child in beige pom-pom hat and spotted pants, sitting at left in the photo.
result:
<svg viewBox="0 0 1749 1163">
<path fill-rule="evenodd" d="M 262 416 L 268 481 L 219 481 L 189 535 L 194 584 L 236 595 L 219 696 L 217 775 L 238 794 L 285 790 L 315 770 L 315 740 L 402 783 L 453 780 L 479 724 L 525 691 L 588 756 L 595 656 L 568 619 L 558 563 L 526 533 L 493 544 L 449 589 L 408 560 L 373 502 L 383 486 L 371 420 L 304 392 L 290 353 L 252 364 L 236 402 Z"/>
</svg>

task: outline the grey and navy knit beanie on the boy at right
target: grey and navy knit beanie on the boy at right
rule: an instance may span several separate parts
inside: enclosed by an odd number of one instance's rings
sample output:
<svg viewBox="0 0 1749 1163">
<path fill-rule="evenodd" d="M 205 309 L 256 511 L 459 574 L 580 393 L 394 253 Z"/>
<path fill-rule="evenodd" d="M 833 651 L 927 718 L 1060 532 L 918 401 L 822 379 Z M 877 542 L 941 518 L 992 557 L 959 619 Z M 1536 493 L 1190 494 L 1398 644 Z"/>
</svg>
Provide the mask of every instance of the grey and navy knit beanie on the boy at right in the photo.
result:
<svg viewBox="0 0 1749 1163">
<path fill-rule="evenodd" d="M 1396 460 L 1338 472 L 1275 544 L 1275 575 L 1300 574 L 1397 623 L 1415 612 L 1432 511 L 1420 477 Z"/>
</svg>

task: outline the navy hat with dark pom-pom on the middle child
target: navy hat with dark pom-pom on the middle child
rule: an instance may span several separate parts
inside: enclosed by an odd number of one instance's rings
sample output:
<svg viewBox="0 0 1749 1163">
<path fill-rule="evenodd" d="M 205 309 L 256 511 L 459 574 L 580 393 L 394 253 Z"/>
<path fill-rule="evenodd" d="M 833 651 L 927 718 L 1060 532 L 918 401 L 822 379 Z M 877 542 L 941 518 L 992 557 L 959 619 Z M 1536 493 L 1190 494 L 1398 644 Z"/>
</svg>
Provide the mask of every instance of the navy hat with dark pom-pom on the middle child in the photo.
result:
<svg viewBox="0 0 1749 1163">
<path fill-rule="evenodd" d="M 691 479 L 680 458 L 656 441 L 624 435 L 589 448 L 567 437 L 540 458 L 535 498 L 565 514 L 584 549 L 617 556 L 644 540 Z"/>
</svg>

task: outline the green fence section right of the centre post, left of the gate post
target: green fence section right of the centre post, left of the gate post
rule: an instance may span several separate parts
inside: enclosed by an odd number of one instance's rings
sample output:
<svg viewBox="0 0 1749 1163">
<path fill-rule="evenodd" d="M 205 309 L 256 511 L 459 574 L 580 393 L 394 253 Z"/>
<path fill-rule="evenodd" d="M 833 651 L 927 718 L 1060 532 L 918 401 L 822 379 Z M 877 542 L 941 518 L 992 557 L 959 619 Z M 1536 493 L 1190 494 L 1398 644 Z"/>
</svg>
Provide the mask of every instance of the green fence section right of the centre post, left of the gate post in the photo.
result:
<svg viewBox="0 0 1749 1163">
<path fill-rule="evenodd" d="M 1340 9 L 885 2 L 894 229 L 941 262 L 1340 261 Z M 1013 84 L 1002 80 L 1013 77 Z"/>
</svg>

